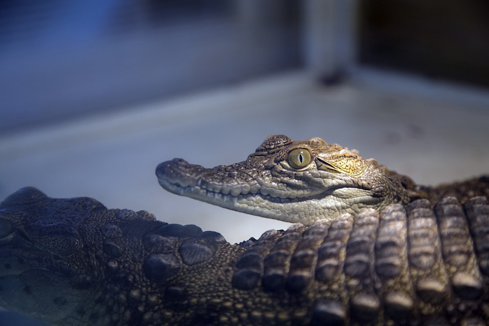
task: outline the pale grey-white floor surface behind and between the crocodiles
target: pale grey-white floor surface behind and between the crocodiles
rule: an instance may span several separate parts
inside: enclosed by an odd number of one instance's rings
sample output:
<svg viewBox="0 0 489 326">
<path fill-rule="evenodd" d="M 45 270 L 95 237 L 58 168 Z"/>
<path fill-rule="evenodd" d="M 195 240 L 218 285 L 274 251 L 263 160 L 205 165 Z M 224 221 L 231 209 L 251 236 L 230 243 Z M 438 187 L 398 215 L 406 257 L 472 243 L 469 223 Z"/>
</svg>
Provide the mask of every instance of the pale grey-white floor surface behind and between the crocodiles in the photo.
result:
<svg viewBox="0 0 489 326">
<path fill-rule="evenodd" d="M 417 83 L 422 89 L 429 83 Z M 325 88 L 302 72 L 221 88 L 118 114 L 0 139 L 0 198 L 24 186 L 51 197 L 90 196 L 109 208 L 147 210 L 197 224 L 230 242 L 288 223 L 167 193 L 159 162 L 212 167 L 242 161 L 271 133 L 319 136 L 424 184 L 489 174 L 489 96 L 427 96 L 376 82 Z M 379 86 L 380 84 L 380 86 Z"/>
</svg>

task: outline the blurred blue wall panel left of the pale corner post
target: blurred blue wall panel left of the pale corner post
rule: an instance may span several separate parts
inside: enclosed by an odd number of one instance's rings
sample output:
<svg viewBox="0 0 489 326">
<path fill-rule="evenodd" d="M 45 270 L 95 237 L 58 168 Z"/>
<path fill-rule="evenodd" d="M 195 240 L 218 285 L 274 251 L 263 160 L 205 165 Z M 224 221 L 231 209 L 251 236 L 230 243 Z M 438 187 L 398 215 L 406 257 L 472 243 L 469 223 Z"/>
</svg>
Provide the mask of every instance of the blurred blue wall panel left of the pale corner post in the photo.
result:
<svg viewBox="0 0 489 326">
<path fill-rule="evenodd" d="M 3 1 L 0 134 L 300 64 L 294 1 Z"/>
</svg>

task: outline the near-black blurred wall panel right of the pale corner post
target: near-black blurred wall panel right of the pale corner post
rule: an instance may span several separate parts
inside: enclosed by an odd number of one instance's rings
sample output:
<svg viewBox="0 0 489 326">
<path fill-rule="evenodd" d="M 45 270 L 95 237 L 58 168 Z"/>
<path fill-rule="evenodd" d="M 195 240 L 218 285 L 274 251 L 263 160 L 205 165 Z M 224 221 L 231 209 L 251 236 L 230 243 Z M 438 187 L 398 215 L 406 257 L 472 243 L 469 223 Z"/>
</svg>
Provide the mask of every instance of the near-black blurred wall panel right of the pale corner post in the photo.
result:
<svg viewBox="0 0 489 326">
<path fill-rule="evenodd" d="M 489 87 L 489 2 L 360 2 L 359 62 Z"/>
</svg>

